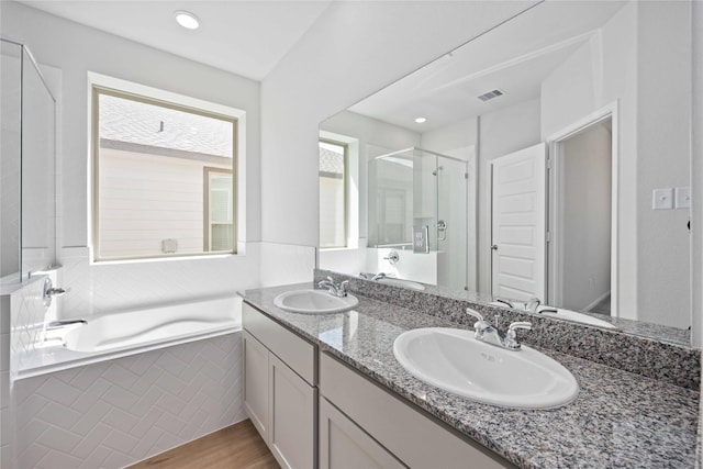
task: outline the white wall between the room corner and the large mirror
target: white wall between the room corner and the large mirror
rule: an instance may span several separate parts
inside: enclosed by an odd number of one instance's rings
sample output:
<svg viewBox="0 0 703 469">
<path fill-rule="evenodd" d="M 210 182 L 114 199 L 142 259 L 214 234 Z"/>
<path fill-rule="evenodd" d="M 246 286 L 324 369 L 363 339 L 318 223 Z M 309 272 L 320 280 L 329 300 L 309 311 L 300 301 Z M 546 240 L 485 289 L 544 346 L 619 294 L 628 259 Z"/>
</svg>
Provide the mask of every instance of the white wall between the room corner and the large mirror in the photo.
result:
<svg viewBox="0 0 703 469">
<path fill-rule="evenodd" d="M 264 242 L 317 244 L 321 121 L 531 4 L 333 2 L 261 85 Z"/>
</svg>

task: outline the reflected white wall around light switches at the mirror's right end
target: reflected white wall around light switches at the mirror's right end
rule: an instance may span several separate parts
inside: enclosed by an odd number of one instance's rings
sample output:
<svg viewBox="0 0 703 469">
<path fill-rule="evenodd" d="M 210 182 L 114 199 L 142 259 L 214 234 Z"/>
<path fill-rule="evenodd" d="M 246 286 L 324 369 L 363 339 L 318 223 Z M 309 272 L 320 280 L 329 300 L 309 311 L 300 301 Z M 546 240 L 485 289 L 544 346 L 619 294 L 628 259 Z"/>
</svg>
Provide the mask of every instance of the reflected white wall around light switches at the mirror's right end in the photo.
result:
<svg viewBox="0 0 703 469">
<path fill-rule="evenodd" d="M 687 328 L 690 211 L 651 210 L 651 191 L 690 185 L 691 4 L 640 2 L 638 8 L 637 319 Z"/>
</svg>

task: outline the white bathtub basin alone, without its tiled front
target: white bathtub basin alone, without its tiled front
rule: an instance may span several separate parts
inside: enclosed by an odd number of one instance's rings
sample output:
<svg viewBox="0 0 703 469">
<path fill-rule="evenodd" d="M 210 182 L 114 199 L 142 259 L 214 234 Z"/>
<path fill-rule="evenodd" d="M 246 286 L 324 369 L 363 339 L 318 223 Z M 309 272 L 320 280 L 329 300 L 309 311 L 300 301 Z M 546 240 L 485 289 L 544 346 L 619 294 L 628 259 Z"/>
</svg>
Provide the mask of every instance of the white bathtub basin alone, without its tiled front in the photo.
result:
<svg viewBox="0 0 703 469">
<path fill-rule="evenodd" d="M 242 298 L 226 297 L 89 317 L 60 336 L 64 347 L 81 353 L 118 351 L 171 345 L 242 328 Z"/>
</svg>

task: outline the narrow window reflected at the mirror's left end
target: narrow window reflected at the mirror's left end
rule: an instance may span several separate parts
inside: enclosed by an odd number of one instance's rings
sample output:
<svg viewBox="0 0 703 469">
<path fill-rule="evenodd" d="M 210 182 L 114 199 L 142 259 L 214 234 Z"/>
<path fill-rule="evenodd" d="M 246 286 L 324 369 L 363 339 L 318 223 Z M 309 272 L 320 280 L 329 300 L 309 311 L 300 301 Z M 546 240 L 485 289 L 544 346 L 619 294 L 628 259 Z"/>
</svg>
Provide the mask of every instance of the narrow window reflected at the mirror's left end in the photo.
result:
<svg viewBox="0 0 703 469">
<path fill-rule="evenodd" d="M 347 145 L 320 141 L 320 247 L 347 246 Z"/>
</svg>

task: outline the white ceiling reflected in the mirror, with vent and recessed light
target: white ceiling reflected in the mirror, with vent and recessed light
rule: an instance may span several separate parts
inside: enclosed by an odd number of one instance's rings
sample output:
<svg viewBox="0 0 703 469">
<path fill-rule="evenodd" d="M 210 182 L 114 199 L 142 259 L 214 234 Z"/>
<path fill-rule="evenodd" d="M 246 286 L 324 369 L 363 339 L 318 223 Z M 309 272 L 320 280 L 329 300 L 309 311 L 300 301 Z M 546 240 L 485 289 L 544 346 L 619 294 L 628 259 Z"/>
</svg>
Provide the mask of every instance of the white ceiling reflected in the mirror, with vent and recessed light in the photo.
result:
<svg viewBox="0 0 703 469">
<path fill-rule="evenodd" d="M 538 98 L 545 78 L 624 4 L 540 3 L 349 110 L 423 133 Z M 494 89 L 505 94 L 487 102 L 477 99 Z M 427 122 L 416 124 L 417 116 Z"/>
</svg>

